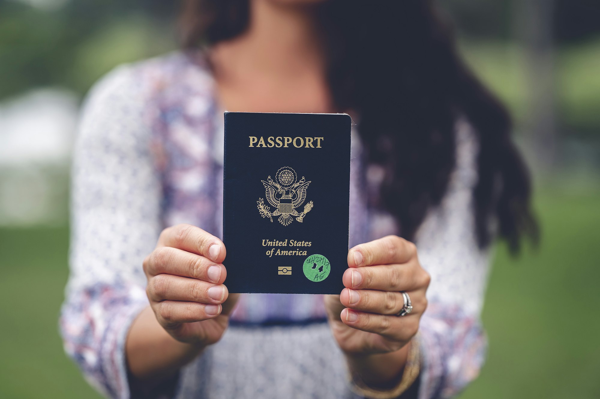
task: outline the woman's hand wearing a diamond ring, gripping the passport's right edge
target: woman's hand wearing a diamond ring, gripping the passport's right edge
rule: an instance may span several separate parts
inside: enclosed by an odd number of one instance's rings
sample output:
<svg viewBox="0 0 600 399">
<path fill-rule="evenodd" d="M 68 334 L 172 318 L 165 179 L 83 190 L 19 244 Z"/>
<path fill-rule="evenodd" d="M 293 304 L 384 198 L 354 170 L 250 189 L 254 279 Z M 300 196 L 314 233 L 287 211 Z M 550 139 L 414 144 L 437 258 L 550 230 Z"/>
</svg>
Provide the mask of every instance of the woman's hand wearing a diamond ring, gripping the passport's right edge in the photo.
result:
<svg viewBox="0 0 600 399">
<path fill-rule="evenodd" d="M 325 299 L 341 349 L 349 355 L 401 349 L 417 333 L 427 307 L 430 276 L 419 264 L 415 244 L 395 235 L 360 244 L 349 250 L 348 266 L 346 288 Z M 401 291 L 409 294 L 413 310 L 400 317 Z"/>
</svg>

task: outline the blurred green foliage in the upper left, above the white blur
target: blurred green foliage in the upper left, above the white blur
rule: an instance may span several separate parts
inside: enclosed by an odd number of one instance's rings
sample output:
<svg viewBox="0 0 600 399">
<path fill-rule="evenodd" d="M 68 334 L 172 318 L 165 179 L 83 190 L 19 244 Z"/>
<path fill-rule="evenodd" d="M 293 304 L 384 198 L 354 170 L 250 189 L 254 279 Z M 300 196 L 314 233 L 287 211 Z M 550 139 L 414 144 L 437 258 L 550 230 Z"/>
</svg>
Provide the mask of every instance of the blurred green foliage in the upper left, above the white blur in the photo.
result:
<svg viewBox="0 0 600 399">
<path fill-rule="evenodd" d="M 172 49 L 175 11 L 157 0 L 0 0 L 0 99 L 37 86 L 83 93 L 116 64 Z"/>
</svg>

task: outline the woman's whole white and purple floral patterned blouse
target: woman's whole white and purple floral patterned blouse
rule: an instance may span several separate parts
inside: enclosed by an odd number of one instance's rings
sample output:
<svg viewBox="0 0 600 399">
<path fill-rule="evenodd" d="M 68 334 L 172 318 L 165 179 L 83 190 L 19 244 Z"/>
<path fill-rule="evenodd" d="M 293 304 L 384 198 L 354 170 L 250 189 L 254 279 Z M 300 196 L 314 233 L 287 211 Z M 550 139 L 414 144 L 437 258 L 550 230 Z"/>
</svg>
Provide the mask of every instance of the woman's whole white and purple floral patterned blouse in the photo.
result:
<svg viewBox="0 0 600 399">
<path fill-rule="evenodd" d="M 466 122 L 456 135 L 448 192 L 415 240 L 431 274 L 419 330 L 422 399 L 457 394 L 485 357 L 479 315 L 489 253 L 473 228 L 477 146 Z M 400 233 L 389 214 L 368 205 L 380 177 L 362 162 L 353 131 L 350 246 Z M 60 325 L 68 355 L 107 397 L 131 397 L 124 343 L 148 306 L 143 258 L 175 223 L 220 236 L 222 179 L 223 113 L 202 56 L 124 65 L 91 90 L 74 154 L 71 273 Z M 242 295 L 221 341 L 182 368 L 164 397 L 355 397 L 324 319 L 319 295 Z"/>
</svg>

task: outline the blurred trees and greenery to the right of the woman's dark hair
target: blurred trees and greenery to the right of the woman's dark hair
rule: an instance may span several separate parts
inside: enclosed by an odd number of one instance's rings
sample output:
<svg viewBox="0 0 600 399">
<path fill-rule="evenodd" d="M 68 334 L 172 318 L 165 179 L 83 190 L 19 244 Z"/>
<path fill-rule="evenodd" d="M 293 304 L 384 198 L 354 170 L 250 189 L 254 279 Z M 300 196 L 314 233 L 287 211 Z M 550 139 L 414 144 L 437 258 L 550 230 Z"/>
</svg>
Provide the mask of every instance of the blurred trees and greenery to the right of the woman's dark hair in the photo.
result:
<svg viewBox="0 0 600 399">
<path fill-rule="evenodd" d="M 467 60 L 509 106 L 539 166 L 583 158 L 600 166 L 600 2 L 440 5 L 455 21 Z"/>
</svg>

